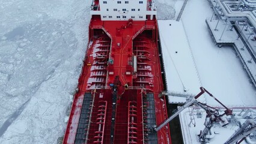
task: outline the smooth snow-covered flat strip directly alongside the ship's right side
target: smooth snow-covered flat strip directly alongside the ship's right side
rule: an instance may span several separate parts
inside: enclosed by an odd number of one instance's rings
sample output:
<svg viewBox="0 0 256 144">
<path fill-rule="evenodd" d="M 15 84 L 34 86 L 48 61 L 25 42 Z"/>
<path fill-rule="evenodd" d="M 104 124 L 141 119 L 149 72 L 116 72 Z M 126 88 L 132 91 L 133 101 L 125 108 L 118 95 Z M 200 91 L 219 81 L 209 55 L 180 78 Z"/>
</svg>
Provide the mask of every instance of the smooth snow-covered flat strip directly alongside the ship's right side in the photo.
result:
<svg viewBox="0 0 256 144">
<path fill-rule="evenodd" d="M 201 86 L 200 77 L 182 23 L 158 20 L 158 25 L 168 91 L 197 94 Z M 169 103 L 186 101 L 184 97 L 169 96 L 168 99 Z"/>
</svg>

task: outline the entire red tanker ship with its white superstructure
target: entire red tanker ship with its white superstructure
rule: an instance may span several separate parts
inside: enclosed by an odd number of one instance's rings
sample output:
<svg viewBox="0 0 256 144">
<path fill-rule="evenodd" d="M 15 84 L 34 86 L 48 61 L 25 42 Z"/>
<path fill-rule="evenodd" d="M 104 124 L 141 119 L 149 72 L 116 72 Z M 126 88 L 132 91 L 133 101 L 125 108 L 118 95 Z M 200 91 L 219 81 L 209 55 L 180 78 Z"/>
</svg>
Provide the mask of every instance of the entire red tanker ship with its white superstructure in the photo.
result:
<svg viewBox="0 0 256 144">
<path fill-rule="evenodd" d="M 63 143 L 171 143 L 151 0 L 94 0 Z"/>
</svg>

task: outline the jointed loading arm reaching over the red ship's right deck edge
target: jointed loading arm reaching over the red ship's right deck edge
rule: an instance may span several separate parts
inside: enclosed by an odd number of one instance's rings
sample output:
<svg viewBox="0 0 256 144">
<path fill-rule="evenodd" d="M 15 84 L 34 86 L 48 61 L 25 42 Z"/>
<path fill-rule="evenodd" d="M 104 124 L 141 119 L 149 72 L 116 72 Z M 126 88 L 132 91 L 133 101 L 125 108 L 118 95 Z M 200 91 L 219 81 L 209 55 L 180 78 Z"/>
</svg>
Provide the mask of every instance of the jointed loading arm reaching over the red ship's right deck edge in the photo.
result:
<svg viewBox="0 0 256 144">
<path fill-rule="evenodd" d="M 221 101 L 219 101 L 217 98 L 215 98 L 209 91 L 207 91 L 205 88 L 200 87 L 201 92 L 197 95 L 195 95 L 195 97 L 193 97 L 192 95 L 190 95 L 189 97 L 186 98 L 186 103 L 181 106 L 177 112 L 174 113 L 174 115 L 170 116 L 168 119 L 165 119 L 165 121 L 163 121 L 160 125 L 154 125 L 153 129 L 155 131 L 159 131 L 162 127 L 164 127 L 166 124 L 168 124 L 168 122 L 170 122 L 172 119 L 175 118 L 175 116 L 177 116 L 178 114 L 180 114 L 184 109 L 186 109 L 187 107 L 189 107 L 191 104 L 195 103 L 198 104 L 200 102 L 197 101 L 197 98 L 199 98 L 201 95 L 204 94 L 204 92 L 206 92 L 207 94 L 210 95 L 210 97 L 213 97 L 216 101 L 218 101 L 219 104 L 221 104 L 223 107 L 225 107 L 225 114 L 226 115 L 232 115 L 232 110 L 228 109 L 228 107 L 224 106 L 224 104 L 221 103 Z M 202 107 L 202 104 L 198 104 L 200 107 Z M 205 106 L 202 107 L 204 110 L 206 110 Z"/>
</svg>

